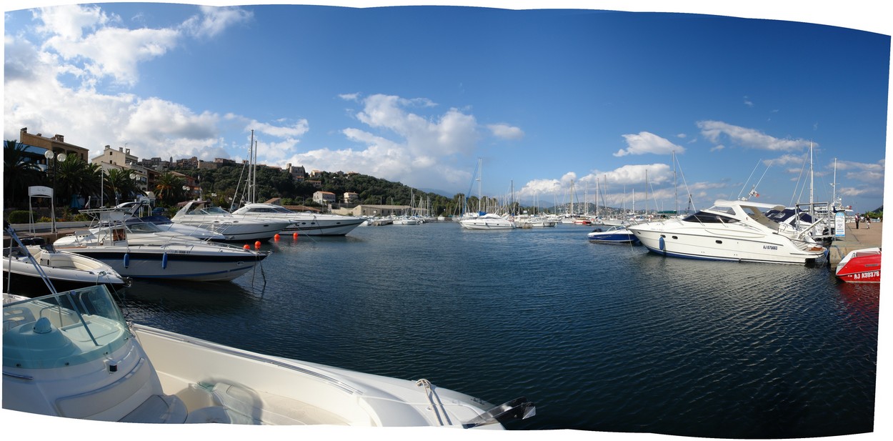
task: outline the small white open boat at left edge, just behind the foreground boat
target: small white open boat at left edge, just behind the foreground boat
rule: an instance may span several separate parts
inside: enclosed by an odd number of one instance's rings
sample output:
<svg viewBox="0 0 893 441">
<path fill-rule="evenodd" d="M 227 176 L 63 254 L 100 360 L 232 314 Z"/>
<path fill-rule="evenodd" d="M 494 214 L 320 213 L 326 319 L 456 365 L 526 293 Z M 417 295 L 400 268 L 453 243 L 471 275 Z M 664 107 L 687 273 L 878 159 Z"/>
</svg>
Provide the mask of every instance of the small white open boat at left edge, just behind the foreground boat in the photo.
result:
<svg viewBox="0 0 893 441">
<path fill-rule="evenodd" d="M 28 240 L 23 240 L 23 243 L 28 243 Z M 45 276 L 53 288 L 46 285 Z M 3 250 L 4 290 L 13 287 L 17 292 L 27 289 L 48 294 L 52 292 L 51 289 L 66 290 L 93 285 L 118 289 L 129 284 L 130 279 L 121 277 L 104 262 L 55 251 L 52 245 L 13 245 Z"/>
</svg>

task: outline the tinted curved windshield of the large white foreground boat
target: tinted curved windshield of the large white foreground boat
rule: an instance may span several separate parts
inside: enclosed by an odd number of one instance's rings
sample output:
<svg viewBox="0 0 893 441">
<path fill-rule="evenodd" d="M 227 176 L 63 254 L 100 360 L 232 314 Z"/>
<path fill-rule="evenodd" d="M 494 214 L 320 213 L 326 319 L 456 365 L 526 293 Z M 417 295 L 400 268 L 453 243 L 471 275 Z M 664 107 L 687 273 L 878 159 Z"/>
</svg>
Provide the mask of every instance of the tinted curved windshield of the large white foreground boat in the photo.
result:
<svg viewBox="0 0 893 441">
<path fill-rule="evenodd" d="M 49 369 L 102 359 L 130 332 L 104 285 L 35 298 L 4 295 L 3 365 Z"/>
</svg>

